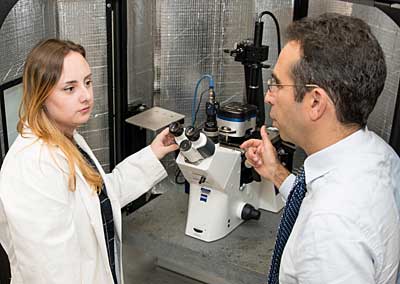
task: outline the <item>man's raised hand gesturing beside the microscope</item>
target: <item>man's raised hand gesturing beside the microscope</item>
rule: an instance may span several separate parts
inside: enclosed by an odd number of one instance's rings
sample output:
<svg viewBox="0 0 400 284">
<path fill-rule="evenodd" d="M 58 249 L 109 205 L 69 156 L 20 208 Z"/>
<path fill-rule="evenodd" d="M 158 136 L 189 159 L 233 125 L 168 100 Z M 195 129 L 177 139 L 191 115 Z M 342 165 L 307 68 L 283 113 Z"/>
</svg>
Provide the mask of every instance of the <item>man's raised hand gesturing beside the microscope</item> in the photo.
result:
<svg viewBox="0 0 400 284">
<path fill-rule="evenodd" d="M 257 173 L 272 181 L 279 188 L 290 173 L 279 161 L 265 126 L 261 127 L 260 133 L 262 140 L 250 139 L 240 145 L 240 148 L 246 151 L 247 162 L 254 167 Z"/>
</svg>

